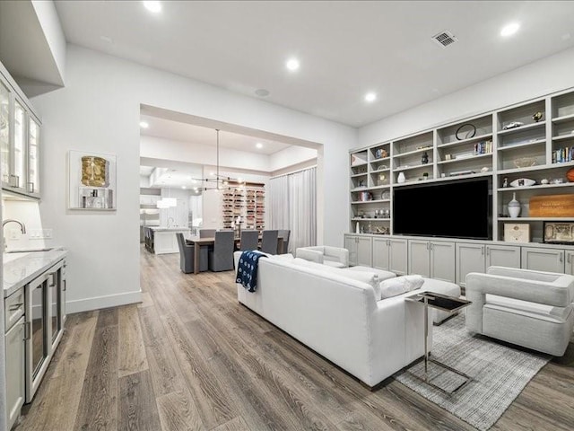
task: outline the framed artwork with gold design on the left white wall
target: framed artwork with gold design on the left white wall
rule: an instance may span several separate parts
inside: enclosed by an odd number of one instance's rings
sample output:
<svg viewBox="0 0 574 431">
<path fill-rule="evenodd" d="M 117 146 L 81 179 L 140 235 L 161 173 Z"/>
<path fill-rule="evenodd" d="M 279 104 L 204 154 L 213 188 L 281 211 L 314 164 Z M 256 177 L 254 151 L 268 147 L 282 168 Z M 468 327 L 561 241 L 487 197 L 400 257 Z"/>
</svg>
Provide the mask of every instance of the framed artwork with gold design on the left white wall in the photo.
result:
<svg viewBox="0 0 574 431">
<path fill-rule="evenodd" d="M 116 155 L 68 151 L 68 209 L 116 210 Z"/>
</svg>

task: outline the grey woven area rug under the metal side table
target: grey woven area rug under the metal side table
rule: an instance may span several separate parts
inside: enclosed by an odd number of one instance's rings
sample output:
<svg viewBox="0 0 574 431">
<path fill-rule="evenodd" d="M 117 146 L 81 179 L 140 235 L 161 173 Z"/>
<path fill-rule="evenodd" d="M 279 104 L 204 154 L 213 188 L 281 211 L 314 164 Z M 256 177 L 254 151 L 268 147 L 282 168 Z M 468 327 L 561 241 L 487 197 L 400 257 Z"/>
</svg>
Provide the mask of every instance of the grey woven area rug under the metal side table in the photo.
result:
<svg viewBox="0 0 574 431">
<path fill-rule="evenodd" d="M 494 425 L 552 358 L 472 336 L 465 329 L 464 313 L 435 326 L 432 339 L 432 356 L 472 377 L 470 383 L 449 395 L 404 371 L 395 375 L 396 380 L 482 431 Z M 418 363 L 409 370 L 419 375 L 423 368 L 423 363 Z M 460 379 L 450 372 L 437 378 L 436 382 L 444 389 L 449 385 L 456 387 Z"/>
</svg>

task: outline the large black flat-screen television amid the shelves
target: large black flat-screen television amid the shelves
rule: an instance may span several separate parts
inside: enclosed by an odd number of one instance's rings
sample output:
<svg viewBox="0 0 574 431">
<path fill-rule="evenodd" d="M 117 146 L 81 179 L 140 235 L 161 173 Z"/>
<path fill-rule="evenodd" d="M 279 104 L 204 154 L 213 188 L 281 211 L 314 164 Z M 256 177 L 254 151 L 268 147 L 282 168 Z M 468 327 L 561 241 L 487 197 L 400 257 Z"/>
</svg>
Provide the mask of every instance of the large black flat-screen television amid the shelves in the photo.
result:
<svg viewBox="0 0 574 431">
<path fill-rule="evenodd" d="M 452 180 L 393 189 L 393 233 L 491 240 L 491 180 Z"/>
</svg>

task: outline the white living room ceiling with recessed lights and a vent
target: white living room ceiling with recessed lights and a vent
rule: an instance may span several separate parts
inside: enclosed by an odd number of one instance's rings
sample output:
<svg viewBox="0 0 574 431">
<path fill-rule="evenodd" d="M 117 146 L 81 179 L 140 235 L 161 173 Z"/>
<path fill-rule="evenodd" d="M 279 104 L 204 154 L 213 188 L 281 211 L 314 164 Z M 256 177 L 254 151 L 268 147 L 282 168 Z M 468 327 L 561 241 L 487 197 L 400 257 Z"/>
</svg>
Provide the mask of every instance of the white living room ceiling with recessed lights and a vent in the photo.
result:
<svg viewBox="0 0 574 431">
<path fill-rule="evenodd" d="M 55 3 L 69 42 L 354 127 L 574 47 L 570 1 Z"/>
</svg>

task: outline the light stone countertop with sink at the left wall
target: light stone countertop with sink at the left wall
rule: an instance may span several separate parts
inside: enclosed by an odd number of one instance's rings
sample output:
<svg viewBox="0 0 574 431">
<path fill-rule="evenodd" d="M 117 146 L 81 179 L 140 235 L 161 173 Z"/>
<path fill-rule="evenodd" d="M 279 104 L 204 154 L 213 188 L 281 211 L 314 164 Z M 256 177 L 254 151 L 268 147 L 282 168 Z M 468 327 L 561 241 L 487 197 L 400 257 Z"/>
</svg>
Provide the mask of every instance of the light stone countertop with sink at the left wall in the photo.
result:
<svg viewBox="0 0 574 431">
<path fill-rule="evenodd" d="M 4 253 L 4 257 L 11 259 L 4 263 L 4 298 L 64 259 L 67 253 L 68 251 L 62 247 L 55 247 L 49 251 Z M 19 256 L 13 257 L 13 255 Z"/>
</svg>

